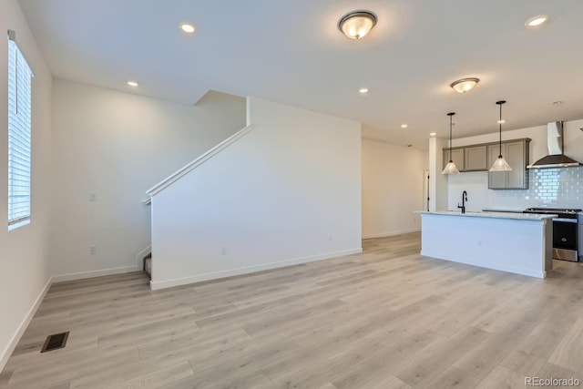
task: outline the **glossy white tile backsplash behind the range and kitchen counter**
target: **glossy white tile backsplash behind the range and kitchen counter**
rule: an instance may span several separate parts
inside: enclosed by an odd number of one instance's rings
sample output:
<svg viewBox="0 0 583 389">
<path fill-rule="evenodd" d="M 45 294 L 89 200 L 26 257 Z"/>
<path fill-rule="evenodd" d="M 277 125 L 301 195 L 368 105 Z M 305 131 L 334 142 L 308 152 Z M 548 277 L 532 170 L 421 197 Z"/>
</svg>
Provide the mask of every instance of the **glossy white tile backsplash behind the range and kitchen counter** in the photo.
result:
<svg viewBox="0 0 583 389">
<path fill-rule="evenodd" d="M 529 207 L 583 209 L 583 167 L 528 170 L 528 189 L 488 188 L 486 171 L 456 174 L 448 178 L 448 209 L 457 210 L 461 192 L 467 190 L 468 210 L 485 208 L 524 210 Z"/>
</svg>

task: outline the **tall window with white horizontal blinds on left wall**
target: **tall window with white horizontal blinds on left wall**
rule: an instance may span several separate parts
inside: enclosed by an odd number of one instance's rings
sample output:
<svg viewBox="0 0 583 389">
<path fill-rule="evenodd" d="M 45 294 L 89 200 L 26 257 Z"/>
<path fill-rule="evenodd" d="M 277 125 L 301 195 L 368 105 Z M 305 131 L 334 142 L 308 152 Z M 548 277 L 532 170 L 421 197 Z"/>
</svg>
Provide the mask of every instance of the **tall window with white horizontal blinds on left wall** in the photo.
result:
<svg viewBox="0 0 583 389">
<path fill-rule="evenodd" d="M 31 89 L 33 73 L 8 31 L 8 229 L 30 220 Z"/>
</svg>

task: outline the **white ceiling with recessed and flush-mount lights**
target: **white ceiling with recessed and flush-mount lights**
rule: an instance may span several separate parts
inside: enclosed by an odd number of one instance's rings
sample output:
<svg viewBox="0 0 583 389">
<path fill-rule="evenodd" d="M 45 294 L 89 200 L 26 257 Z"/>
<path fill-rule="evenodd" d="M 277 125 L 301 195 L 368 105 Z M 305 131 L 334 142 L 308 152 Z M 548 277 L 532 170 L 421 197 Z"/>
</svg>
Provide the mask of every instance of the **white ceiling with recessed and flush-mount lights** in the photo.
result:
<svg viewBox="0 0 583 389">
<path fill-rule="evenodd" d="M 209 89 L 363 122 L 363 137 L 424 148 L 583 118 L 581 0 L 20 0 L 55 77 L 194 104 Z M 378 16 L 353 41 L 355 9 Z M 545 26 L 525 21 L 546 14 Z M 194 36 L 179 31 L 193 22 Z M 479 77 L 461 95 L 449 84 Z M 128 79 L 139 87 L 130 90 Z M 370 93 L 360 96 L 359 87 Z M 560 106 L 553 101 L 562 100 Z M 401 128 L 407 123 L 408 128 Z"/>
</svg>

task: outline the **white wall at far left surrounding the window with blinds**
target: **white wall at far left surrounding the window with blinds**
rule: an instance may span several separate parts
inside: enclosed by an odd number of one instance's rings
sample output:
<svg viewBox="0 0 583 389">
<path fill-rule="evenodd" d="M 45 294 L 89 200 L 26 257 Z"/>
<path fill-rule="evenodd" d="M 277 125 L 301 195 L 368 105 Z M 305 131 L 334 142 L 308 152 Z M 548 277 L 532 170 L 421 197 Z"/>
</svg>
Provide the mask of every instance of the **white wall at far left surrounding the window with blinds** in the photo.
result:
<svg viewBox="0 0 583 389">
<path fill-rule="evenodd" d="M 0 32 L 15 30 L 16 43 L 35 73 L 32 101 L 32 210 L 30 224 L 7 230 L 7 138 L 0 137 L 0 371 L 15 343 L 26 329 L 27 319 L 49 281 L 48 219 L 50 212 L 51 85 L 46 67 L 25 16 L 16 0 L 0 1 Z M 0 123 L 7 118 L 7 39 L 0 39 Z"/>
</svg>

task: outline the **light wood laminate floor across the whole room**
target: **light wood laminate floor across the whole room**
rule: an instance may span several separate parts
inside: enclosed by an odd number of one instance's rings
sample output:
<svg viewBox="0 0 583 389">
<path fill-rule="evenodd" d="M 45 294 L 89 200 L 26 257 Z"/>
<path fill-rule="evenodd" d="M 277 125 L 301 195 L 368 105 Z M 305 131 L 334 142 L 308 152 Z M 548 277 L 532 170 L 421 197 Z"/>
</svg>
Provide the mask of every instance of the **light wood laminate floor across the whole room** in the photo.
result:
<svg viewBox="0 0 583 389">
<path fill-rule="evenodd" d="M 151 292 L 142 273 L 55 284 L 2 388 L 523 388 L 583 380 L 583 267 L 547 280 L 363 254 Z M 66 348 L 39 353 L 46 335 Z"/>
</svg>

